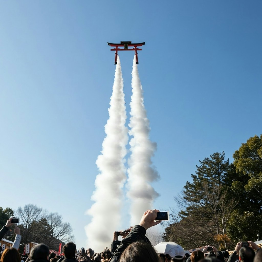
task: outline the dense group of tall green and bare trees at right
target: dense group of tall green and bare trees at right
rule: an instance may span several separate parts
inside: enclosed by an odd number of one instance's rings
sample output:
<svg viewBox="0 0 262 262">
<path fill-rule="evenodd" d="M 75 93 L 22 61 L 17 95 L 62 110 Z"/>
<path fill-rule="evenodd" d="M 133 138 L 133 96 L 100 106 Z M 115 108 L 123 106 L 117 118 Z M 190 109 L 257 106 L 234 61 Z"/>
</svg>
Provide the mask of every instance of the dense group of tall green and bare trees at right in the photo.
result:
<svg viewBox="0 0 262 262">
<path fill-rule="evenodd" d="M 185 249 L 206 244 L 233 248 L 255 240 L 262 219 L 262 135 L 255 135 L 233 154 L 216 152 L 199 161 L 192 182 L 175 197 L 178 212 L 166 227 L 165 241 Z"/>
</svg>

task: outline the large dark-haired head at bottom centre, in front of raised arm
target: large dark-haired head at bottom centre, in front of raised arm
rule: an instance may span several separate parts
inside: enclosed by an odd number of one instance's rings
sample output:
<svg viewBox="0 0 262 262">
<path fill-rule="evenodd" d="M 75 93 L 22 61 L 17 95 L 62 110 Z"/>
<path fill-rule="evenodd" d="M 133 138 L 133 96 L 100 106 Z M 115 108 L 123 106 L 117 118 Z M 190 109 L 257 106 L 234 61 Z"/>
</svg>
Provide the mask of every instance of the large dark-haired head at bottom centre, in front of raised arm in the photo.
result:
<svg viewBox="0 0 262 262">
<path fill-rule="evenodd" d="M 137 241 L 131 243 L 122 253 L 119 262 L 153 262 L 159 261 L 152 245 L 145 241 Z"/>
</svg>

